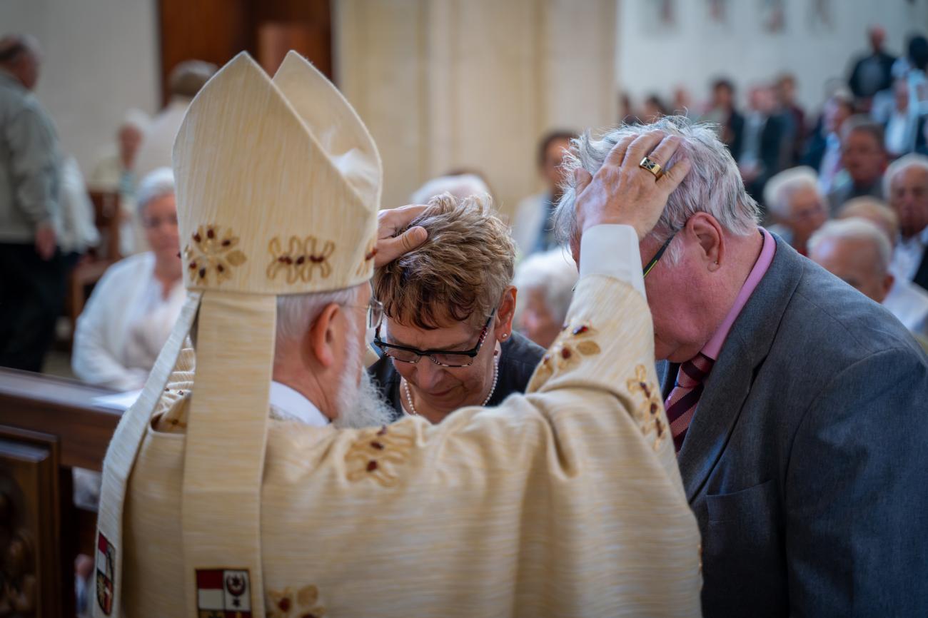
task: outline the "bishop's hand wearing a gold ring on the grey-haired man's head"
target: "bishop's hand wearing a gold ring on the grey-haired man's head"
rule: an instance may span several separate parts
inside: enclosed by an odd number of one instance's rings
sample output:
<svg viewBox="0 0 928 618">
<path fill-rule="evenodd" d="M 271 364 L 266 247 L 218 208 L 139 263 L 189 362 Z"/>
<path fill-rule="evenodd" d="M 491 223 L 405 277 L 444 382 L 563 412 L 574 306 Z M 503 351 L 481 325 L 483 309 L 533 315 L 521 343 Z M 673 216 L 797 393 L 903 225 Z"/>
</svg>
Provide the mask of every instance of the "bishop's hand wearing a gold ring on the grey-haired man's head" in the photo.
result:
<svg viewBox="0 0 928 618">
<path fill-rule="evenodd" d="M 690 172 L 690 161 L 680 159 L 659 179 L 638 163 L 647 156 L 664 166 L 679 146 L 677 135 L 663 131 L 629 135 L 612 147 L 595 175 L 578 169 L 575 208 L 581 234 L 593 225 L 620 224 L 634 227 L 639 240 L 647 236 L 667 198 Z"/>
</svg>

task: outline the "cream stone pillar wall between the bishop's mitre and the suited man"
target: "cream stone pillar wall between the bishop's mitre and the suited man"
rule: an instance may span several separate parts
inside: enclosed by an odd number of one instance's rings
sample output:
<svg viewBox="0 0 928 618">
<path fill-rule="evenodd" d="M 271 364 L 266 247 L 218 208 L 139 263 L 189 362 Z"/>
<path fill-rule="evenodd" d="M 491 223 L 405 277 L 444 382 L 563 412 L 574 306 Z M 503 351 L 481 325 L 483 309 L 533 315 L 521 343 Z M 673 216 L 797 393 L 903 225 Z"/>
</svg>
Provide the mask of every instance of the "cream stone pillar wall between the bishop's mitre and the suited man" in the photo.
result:
<svg viewBox="0 0 928 618">
<path fill-rule="evenodd" d="M 512 212 L 537 189 L 540 135 L 612 122 L 614 0 L 342 0 L 335 11 L 336 80 L 380 148 L 385 206 L 472 168 Z"/>
</svg>

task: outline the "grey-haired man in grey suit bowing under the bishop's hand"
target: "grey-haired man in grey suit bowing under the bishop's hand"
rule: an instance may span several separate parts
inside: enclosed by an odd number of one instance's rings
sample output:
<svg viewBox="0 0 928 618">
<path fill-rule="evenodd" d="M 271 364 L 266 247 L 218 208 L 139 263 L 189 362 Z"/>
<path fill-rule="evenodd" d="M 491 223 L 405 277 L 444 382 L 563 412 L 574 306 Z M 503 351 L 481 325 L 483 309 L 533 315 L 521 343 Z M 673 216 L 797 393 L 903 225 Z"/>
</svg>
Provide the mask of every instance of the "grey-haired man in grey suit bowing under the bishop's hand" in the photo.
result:
<svg viewBox="0 0 928 618">
<path fill-rule="evenodd" d="M 647 274 L 703 612 L 925 614 L 928 359 L 908 331 L 758 227 L 728 150 L 685 119 L 576 140 L 562 237 L 576 256 L 575 213 L 621 180 L 603 161 L 653 133 L 680 147 L 639 174 L 692 171 L 626 265 Z"/>
</svg>

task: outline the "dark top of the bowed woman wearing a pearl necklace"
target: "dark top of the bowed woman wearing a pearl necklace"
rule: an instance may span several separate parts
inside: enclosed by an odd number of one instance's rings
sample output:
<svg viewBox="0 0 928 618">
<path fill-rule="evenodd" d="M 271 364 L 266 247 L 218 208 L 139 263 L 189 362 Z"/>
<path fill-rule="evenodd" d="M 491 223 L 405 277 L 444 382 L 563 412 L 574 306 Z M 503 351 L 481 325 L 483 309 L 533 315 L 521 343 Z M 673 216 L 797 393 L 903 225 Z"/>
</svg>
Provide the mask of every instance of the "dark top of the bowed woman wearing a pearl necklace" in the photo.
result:
<svg viewBox="0 0 928 618">
<path fill-rule="evenodd" d="M 496 390 L 487 406 L 498 406 L 512 393 L 524 393 L 528 380 L 532 378 L 535 367 L 545 354 L 544 348 L 517 332 L 513 332 L 509 340 L 501 343 L 500 348 L 502 355 L 499 357 L 499 377 L 496 380 Z M 423 358 L 419 362 L 432 361 Z M 400 374 L 393 367 L 393 361 L 387 356 L 381 356 L 379 361 L 367 368 L 367 373 L 377 382 L 380 393 L 393 406 L 393 420 L 402 418 L 406 412 L 400 403 Z"/>
</svg>

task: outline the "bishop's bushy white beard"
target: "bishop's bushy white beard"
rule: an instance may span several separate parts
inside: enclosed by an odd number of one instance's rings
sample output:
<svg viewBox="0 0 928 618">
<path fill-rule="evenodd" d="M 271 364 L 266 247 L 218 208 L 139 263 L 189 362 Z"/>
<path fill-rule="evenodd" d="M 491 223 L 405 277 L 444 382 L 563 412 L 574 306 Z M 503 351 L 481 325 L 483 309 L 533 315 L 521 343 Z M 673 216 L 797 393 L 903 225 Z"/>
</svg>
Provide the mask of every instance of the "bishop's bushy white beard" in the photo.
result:
<svg viewBox="0 0 928 618">
<path fill-rule="evenodd" d="M 356 332 L 352 324 L 348 332 L 348 341 L 356 341 Z M 393 417 L 391 408 L 374 386 L 373 380 L 364 368 L 364 355 L 356 345 L 350 345 L 346 351 L 345 368 L 339 382 L 336 397 L 338 417 L 332 422 L 339 429 L 362 429 L 389 425 Z M 360 372 L 361 383 L 356 376 Z"/>
</svg>

